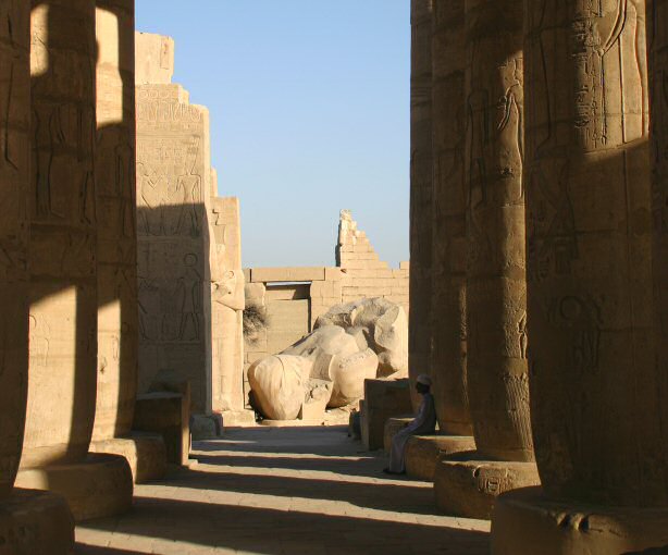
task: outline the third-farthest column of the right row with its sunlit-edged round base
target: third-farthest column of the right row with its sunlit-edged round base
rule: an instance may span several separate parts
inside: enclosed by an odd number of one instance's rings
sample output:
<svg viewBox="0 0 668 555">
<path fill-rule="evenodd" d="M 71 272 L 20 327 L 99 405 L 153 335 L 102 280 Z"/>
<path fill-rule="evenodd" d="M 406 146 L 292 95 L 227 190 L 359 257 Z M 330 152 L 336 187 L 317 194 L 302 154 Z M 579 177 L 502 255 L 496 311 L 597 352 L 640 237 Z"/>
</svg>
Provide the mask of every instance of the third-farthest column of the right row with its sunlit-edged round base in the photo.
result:
<svg viewBox="0 0 668 555">
<path fill-rule="evenodd" d="M 446 462 L 443 508 L 488 518 L 539 483 L 527 365 L 522 1 L 466 0 L 468 392 L 477 453 Z"/>
</svg>

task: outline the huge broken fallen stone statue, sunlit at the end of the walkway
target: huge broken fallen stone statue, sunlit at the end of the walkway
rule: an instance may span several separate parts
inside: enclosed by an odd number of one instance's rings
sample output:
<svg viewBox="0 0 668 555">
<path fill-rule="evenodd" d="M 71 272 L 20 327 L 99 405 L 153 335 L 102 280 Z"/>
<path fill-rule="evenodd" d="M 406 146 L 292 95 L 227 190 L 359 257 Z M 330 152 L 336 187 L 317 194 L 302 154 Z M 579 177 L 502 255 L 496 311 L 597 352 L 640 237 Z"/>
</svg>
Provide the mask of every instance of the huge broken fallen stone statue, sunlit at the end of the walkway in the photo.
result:
<svg viewBox="0 0 668 555">
<path fill-rule="evenodd" d="M 338 305 L 312 333 L 248 369 L 251 400 L 270 420 L 321 416 L 357 403 L 364 380 L 408 375 L 408 319 L 383 298 Z"/>
</svg>

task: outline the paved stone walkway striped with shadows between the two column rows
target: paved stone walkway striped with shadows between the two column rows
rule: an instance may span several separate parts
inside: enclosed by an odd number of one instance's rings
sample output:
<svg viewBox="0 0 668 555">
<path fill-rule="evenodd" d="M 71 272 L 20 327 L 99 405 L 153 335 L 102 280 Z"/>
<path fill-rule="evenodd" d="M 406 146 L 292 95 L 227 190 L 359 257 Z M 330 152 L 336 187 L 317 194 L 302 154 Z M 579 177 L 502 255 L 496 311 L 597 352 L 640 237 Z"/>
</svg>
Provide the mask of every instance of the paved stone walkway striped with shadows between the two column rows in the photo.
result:
<svg viewBox="0 0 668 555">
<path fill-rule="evenodd" d="M 438 516 L 431 483 L 394 480 L 336 428 L 198 442 L 198 465 L 139 485 L 134 510 L 77 528 L 77 555 L 488 553 L 488 522 Z"/>
</svg>

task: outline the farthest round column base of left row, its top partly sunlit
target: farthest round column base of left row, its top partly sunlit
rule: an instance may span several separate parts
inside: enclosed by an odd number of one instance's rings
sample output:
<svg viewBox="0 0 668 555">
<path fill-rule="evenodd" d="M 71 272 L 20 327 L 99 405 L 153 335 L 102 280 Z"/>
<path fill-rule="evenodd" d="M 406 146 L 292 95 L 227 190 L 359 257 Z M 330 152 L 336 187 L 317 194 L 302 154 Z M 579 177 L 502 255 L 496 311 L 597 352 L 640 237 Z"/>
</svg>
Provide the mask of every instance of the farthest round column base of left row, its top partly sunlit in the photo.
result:
<svg viewBox="0 0 668 555">
<path fill-rule="evenodd" d="M 166 448 L 160 434 L 133 432 L 127 437 L 94 441 L 89 451 L 125 457 L 135 483 L 162 480 L 166 472 Z"/>
</svg>

